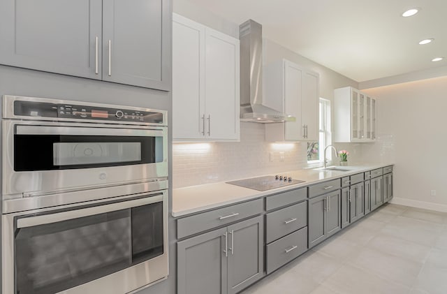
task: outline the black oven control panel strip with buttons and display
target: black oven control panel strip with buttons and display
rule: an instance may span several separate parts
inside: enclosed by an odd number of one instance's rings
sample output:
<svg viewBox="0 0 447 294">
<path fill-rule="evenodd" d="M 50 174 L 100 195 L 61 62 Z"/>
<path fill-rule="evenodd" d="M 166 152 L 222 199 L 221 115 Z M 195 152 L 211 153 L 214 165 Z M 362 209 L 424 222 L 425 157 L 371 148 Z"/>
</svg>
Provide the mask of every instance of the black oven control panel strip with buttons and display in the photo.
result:
<svg viewBox="0 0 447 294">
<path fill-rule="evenodd" d="M 106 108 L 79 104 L 14 101 L 14 115 L 24 117 L 59 117 L 64 119 L 95 119 L 115 122 L 163 124 L 163 113 Z"/>
</svg>

